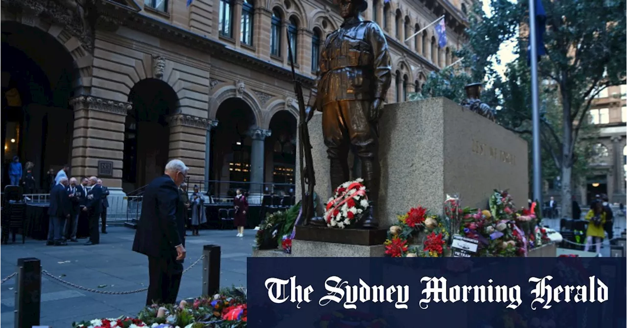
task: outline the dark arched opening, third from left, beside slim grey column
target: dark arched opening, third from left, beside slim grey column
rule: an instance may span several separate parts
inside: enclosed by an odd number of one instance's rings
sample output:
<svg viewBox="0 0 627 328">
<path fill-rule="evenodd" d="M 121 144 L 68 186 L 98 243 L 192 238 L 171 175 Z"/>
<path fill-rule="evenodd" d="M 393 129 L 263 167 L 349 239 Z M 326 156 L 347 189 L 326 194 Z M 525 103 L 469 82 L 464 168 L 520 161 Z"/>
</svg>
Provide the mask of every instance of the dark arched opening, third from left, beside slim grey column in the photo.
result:
<svg viewBox="0 0 627 328">
<path fill-rule="evenodd" d="M 211 186 L 214 198 L 229 198 L 235 188 L 250 189 L 252 179 L 251 127 L 256 119 L 253 110 L 241 98 L 224 100 L 216 112 L 218 126 L 211 130 Z"/>
</svg>

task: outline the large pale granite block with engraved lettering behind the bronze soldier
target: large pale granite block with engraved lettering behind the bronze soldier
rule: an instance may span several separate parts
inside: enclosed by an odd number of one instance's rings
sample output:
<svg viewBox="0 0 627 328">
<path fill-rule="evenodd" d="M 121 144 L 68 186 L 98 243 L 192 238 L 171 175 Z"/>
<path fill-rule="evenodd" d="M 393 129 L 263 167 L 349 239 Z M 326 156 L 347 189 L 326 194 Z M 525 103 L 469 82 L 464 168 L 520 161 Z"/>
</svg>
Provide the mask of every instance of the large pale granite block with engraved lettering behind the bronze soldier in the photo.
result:
<svg viewBox="0 0 627 328">
<path fill-rule="evenodd" d="M 337 186 L 330 185 L 322 115 L 314 115 L 308 127 L 315 191 L 326 201 Z M 446 194 L 460 194 L 463 206 L 486 208 L 493 189 L 508 189 L 517 206 L 527 206 L 527 142 L 451 100 L 386 105 L 379 134 L 381 189 L 376 211 L 381 228 L 418 205 L 441 213 Z M 300 181 L 298 167 L 296 172 L 295 180 Z M 300 184 L 296 194 L 299 198 Z"/>
</svg>

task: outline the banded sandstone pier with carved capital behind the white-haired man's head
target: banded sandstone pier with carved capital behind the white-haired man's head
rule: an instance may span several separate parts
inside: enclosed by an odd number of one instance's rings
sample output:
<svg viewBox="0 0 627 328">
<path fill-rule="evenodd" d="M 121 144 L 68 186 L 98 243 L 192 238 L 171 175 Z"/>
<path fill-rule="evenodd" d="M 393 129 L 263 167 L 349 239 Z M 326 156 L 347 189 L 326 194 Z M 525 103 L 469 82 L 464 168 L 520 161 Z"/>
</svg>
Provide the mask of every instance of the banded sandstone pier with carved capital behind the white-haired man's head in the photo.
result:
<svg viewBox="0 0 627 328">
<path fill-rule="evenodd" d="M 170 127 L 169 160 L 181 159 L 187 167 L 190 183 L 201 184 L 205 179 L 205 159 L 207 130 L 213 120 L 184 114 L 174 114 L 167 118 Z"/>
</svg>

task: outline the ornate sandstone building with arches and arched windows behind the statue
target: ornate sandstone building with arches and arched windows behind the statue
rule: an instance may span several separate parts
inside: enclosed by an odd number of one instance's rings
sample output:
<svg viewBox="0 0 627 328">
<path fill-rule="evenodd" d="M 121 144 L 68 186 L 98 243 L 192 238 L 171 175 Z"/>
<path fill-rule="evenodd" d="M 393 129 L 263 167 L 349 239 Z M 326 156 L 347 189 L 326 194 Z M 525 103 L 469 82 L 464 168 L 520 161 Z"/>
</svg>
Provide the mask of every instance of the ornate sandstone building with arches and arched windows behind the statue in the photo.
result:
<svg viewBox="0 0 627 328">
<path fill-rule="evenodd" d="M 472 1 L 368 1 L 364 16 L 384 28 L 393 58 L 387 102 L 403 101 L 455 60 Z M 144 186 L 172 158 L 191 167 L 194 184 L 293 183 L 286 34 L 298 79 L 311 87 L 320 43 L 341 24 L 336 7 L 186 2 L 0 0 L 3 164 L 33 161 L 43 186 L 48 169 L 70 163 L 72 176 L 99 175 L 119 193 Z M 442 15 L 446 48 L 433 28 L 404 41 Z"/>
</svg>

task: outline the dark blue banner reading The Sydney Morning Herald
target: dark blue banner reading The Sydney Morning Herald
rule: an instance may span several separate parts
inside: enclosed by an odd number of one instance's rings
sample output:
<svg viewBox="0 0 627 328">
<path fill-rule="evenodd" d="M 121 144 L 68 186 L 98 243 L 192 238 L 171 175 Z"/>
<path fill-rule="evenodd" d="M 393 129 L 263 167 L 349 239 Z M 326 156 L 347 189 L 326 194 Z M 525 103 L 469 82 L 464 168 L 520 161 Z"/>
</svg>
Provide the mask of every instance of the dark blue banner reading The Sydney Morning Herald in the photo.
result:
<svg viewBox="0 0 627 328">
<path fill-rule="evenodd" d="M 248 258 L 248 327 L 627 327 L 623 258 Z"/>
</svg>

